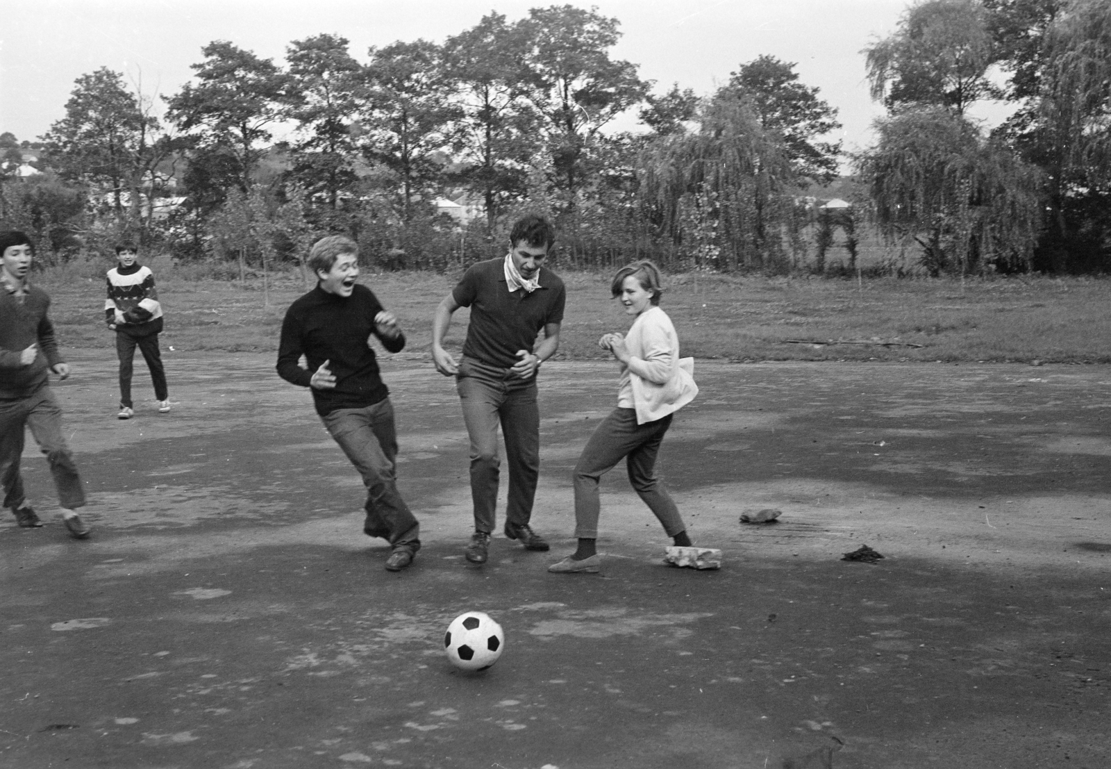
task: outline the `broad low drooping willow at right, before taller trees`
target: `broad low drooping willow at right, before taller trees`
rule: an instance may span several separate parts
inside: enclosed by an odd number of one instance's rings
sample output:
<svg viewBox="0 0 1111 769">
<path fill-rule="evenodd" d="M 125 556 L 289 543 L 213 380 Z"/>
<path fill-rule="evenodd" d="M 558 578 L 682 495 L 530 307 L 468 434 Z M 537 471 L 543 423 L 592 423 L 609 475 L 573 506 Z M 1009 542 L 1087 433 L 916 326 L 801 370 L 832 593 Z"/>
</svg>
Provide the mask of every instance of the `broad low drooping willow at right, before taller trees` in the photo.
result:
<svg viewBox="0 0 1111 769">
<path fill-rule="evenodd" d="M 1037 169 L 944 109 L 874 128 L 878 142 L 857 157 L 857 170 L 889 242 L 917 241 L 934 276 L 989 263 L 1029 269 L 1043 208 Z"/>
</svg>

